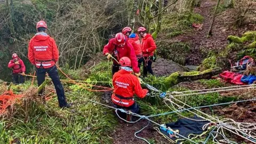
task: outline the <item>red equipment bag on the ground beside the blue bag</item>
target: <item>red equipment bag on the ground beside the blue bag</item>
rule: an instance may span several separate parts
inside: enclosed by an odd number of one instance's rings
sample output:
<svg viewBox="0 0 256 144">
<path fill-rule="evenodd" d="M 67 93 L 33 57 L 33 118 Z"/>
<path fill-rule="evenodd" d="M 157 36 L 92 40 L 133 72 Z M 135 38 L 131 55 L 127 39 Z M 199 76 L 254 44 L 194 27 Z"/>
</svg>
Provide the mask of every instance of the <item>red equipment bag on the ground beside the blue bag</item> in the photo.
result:
<svg viewBox="0 0 256 144">
<path fill-rule="evenodd" d="M 222 77 L 226 82 L 232 84 L 245 85 L 245 83 L 241 82 L 241 78 L 243 77 L 243 75 L 241 74 L 236 74 L 230 71 L 224 71 L 220 74 L 220 77 Z"/>
</svg>

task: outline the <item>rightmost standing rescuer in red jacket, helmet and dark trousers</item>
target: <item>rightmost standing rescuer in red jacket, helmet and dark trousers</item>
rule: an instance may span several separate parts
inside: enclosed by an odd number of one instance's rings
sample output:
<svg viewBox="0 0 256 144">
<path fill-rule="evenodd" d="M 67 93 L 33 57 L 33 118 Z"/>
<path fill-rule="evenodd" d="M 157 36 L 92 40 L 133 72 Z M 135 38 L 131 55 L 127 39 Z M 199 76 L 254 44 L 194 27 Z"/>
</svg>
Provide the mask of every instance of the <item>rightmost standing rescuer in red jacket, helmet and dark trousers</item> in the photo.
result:
<svg viewBox="0 0 256 144">
<path fill-rule="evenodd" d="M 139 35 L 142 37 L 141 49 L 143 54 L 143 76 L 147 74 L 154 75 L 152 70 L 154 51 L 156 50 L 156 43 L 150 34 L 147 34 L 147 30 L 144 27 L 138 29 Z"/>
</svg>

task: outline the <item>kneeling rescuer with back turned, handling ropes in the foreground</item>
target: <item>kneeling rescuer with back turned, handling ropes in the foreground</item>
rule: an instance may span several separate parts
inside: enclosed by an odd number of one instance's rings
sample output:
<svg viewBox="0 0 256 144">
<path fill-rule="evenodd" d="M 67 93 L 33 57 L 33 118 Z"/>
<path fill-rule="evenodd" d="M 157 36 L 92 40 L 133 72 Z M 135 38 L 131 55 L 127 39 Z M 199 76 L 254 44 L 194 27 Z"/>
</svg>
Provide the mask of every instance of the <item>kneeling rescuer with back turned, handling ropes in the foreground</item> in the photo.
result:
<svg viewBox="0 0 256 144">
<path fill-rule="evenodd" d="M 139 79 L 132 75 L 131 60 L 127 57 L 122 57 L 119 60 L 121 65 L 120 70 L 113 76 L 114 92 L 111 96 L 113 103 L 117 108 L 131 110 L 132 113 L 140 114 L 140 107 L 134 101 L 134 94 L 139 98 L 145 98 L 148 90 L 142 89 Z M 126 114 L 121 117 L 125 118 Z M 130 121 L 130 115 L 126 117 Z"/>
</svg>

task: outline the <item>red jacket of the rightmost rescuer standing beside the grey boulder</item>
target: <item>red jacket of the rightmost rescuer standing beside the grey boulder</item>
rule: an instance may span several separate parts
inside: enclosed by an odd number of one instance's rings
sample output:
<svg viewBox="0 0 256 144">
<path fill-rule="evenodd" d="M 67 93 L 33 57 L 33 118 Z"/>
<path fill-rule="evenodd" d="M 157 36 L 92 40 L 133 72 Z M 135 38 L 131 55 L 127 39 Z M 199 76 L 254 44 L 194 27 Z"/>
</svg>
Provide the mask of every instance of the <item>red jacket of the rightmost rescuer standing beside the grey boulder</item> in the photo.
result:
<svg viewBox="0 0 256 144">
<path fill-rule="evenodd" d="M 156 50 L 156 43 L 150 34 L 147 34 L 142 38 L 141 47 L 143 56 L 149 57 L 154 55 L 154 51 Z"/>
</svg>

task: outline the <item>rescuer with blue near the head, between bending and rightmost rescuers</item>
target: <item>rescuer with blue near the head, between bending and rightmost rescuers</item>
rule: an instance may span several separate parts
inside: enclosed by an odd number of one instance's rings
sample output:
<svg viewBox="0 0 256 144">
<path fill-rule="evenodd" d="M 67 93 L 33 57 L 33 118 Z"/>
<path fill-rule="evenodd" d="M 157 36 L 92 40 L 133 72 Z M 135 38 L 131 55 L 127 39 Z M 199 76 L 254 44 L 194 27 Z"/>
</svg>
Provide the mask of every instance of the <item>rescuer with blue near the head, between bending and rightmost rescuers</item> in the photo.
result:
<svg viewBox="0 0 256 144">
<path fill-rule="evenodd" d="M 141 50 L 141 44 L 140 44 L 140 38 L 137 34 L 132 33 L 132 29 L 130 27 L 125 27 L 122 30 L 122 33 L 127 36 L 128 42 L 132 44 L 133 49 L 135 51 L 135 55 L 137 57 L 138 61 L 138 67 L 141 67 L 141 63 L 143 62 L 143 56 L 142 56 L 142 50 Z"/>
</svg>

